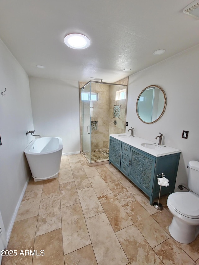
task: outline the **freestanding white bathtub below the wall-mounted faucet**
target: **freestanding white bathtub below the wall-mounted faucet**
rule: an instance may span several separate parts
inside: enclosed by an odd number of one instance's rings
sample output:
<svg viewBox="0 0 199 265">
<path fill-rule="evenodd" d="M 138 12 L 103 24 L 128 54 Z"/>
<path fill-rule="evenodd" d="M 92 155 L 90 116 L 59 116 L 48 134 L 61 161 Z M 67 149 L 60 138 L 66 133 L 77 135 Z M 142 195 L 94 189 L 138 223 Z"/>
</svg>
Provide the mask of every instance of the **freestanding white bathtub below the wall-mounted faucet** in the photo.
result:
<svg viewBox="0 0 199 265">
<path fill-rule="evenodd" d="M 41 137 L 30 142 L 24 153 L 35 181 L 58 177 L 62 149 L 60 137 Z"/>
</svg>

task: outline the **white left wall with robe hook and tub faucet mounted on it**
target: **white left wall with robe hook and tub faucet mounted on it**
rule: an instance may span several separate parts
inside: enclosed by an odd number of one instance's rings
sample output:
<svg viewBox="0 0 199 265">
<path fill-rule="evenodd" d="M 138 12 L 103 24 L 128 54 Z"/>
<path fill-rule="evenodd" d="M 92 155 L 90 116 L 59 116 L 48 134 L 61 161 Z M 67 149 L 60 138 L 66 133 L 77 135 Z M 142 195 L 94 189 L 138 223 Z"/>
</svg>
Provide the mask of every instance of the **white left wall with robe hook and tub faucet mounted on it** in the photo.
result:
<svg viewBox="0 0 199 265">
<path fill-rule="evenodd" d="M 33 139 L 28 76 L 0 40 L 0 212 L 9 238 L 30 169 L 24 149 Z"/>
</svg>

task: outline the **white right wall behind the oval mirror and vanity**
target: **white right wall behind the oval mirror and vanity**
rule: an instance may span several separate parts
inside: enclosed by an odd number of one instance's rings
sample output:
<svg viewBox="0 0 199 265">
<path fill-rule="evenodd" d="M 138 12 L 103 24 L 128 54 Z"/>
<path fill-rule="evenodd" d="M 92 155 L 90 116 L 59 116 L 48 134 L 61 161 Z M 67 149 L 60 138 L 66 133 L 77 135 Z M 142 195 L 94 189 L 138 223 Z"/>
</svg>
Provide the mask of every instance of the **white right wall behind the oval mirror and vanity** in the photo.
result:
<svg viewBox="0 0 199 265">
<path fill-rule="evenodd" d="M 161 56 L 161 55 L 160 55 Z M 190 160 L 199 161 L 199 46 L 171 57 L 129 77 L 127 121 L 134 127 L 135 135 L 154 141 L 159 132 L 165 145 L 182 150 L 176 188 L 187 185 Z M 167 107 L 161 119 L 145 124 L 136 114 L 137 98 L 145 87 L 159 85 L 167 96 Z M 127 131 L 128 127 L 126 128 Z M 182 138 L 189 131 L 188 139 Z M 155 140 L 158 141 L 158 140 Z M 166 176 L 169 179 L 169 176 Z"/>
</svg>

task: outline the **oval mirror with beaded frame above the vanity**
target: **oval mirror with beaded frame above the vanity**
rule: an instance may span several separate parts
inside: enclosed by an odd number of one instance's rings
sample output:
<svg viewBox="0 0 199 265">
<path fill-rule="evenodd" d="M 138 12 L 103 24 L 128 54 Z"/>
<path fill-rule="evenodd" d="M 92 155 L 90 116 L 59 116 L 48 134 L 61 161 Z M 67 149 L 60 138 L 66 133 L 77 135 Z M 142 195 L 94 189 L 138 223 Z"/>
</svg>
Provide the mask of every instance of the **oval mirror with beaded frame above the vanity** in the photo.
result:
<svg viewBox="0 0 199 265">
<path fill-rule="evenodd" d="M 144 123 L 154 123 L 164 114 L 166 104 L 166 94 L 160 86 L 147 86 L 137 99 L 137 116 Z"/>
</svg>

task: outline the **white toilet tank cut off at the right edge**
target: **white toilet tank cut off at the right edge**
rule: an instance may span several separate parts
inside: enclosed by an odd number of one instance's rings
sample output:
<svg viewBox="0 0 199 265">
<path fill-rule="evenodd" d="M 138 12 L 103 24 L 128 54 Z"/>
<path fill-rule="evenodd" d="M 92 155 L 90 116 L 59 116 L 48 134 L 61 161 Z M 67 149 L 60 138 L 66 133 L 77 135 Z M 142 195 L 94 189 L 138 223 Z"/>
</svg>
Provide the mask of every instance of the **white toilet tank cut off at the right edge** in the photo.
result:
<svg viewBox="0 0 199 265">
<path fill-rule="evenodd" d="M 188 164 L 189 176 L 188 187 L 193 192 L 199 194 L 199 162 L 190 161 Z"/>
</svg>

